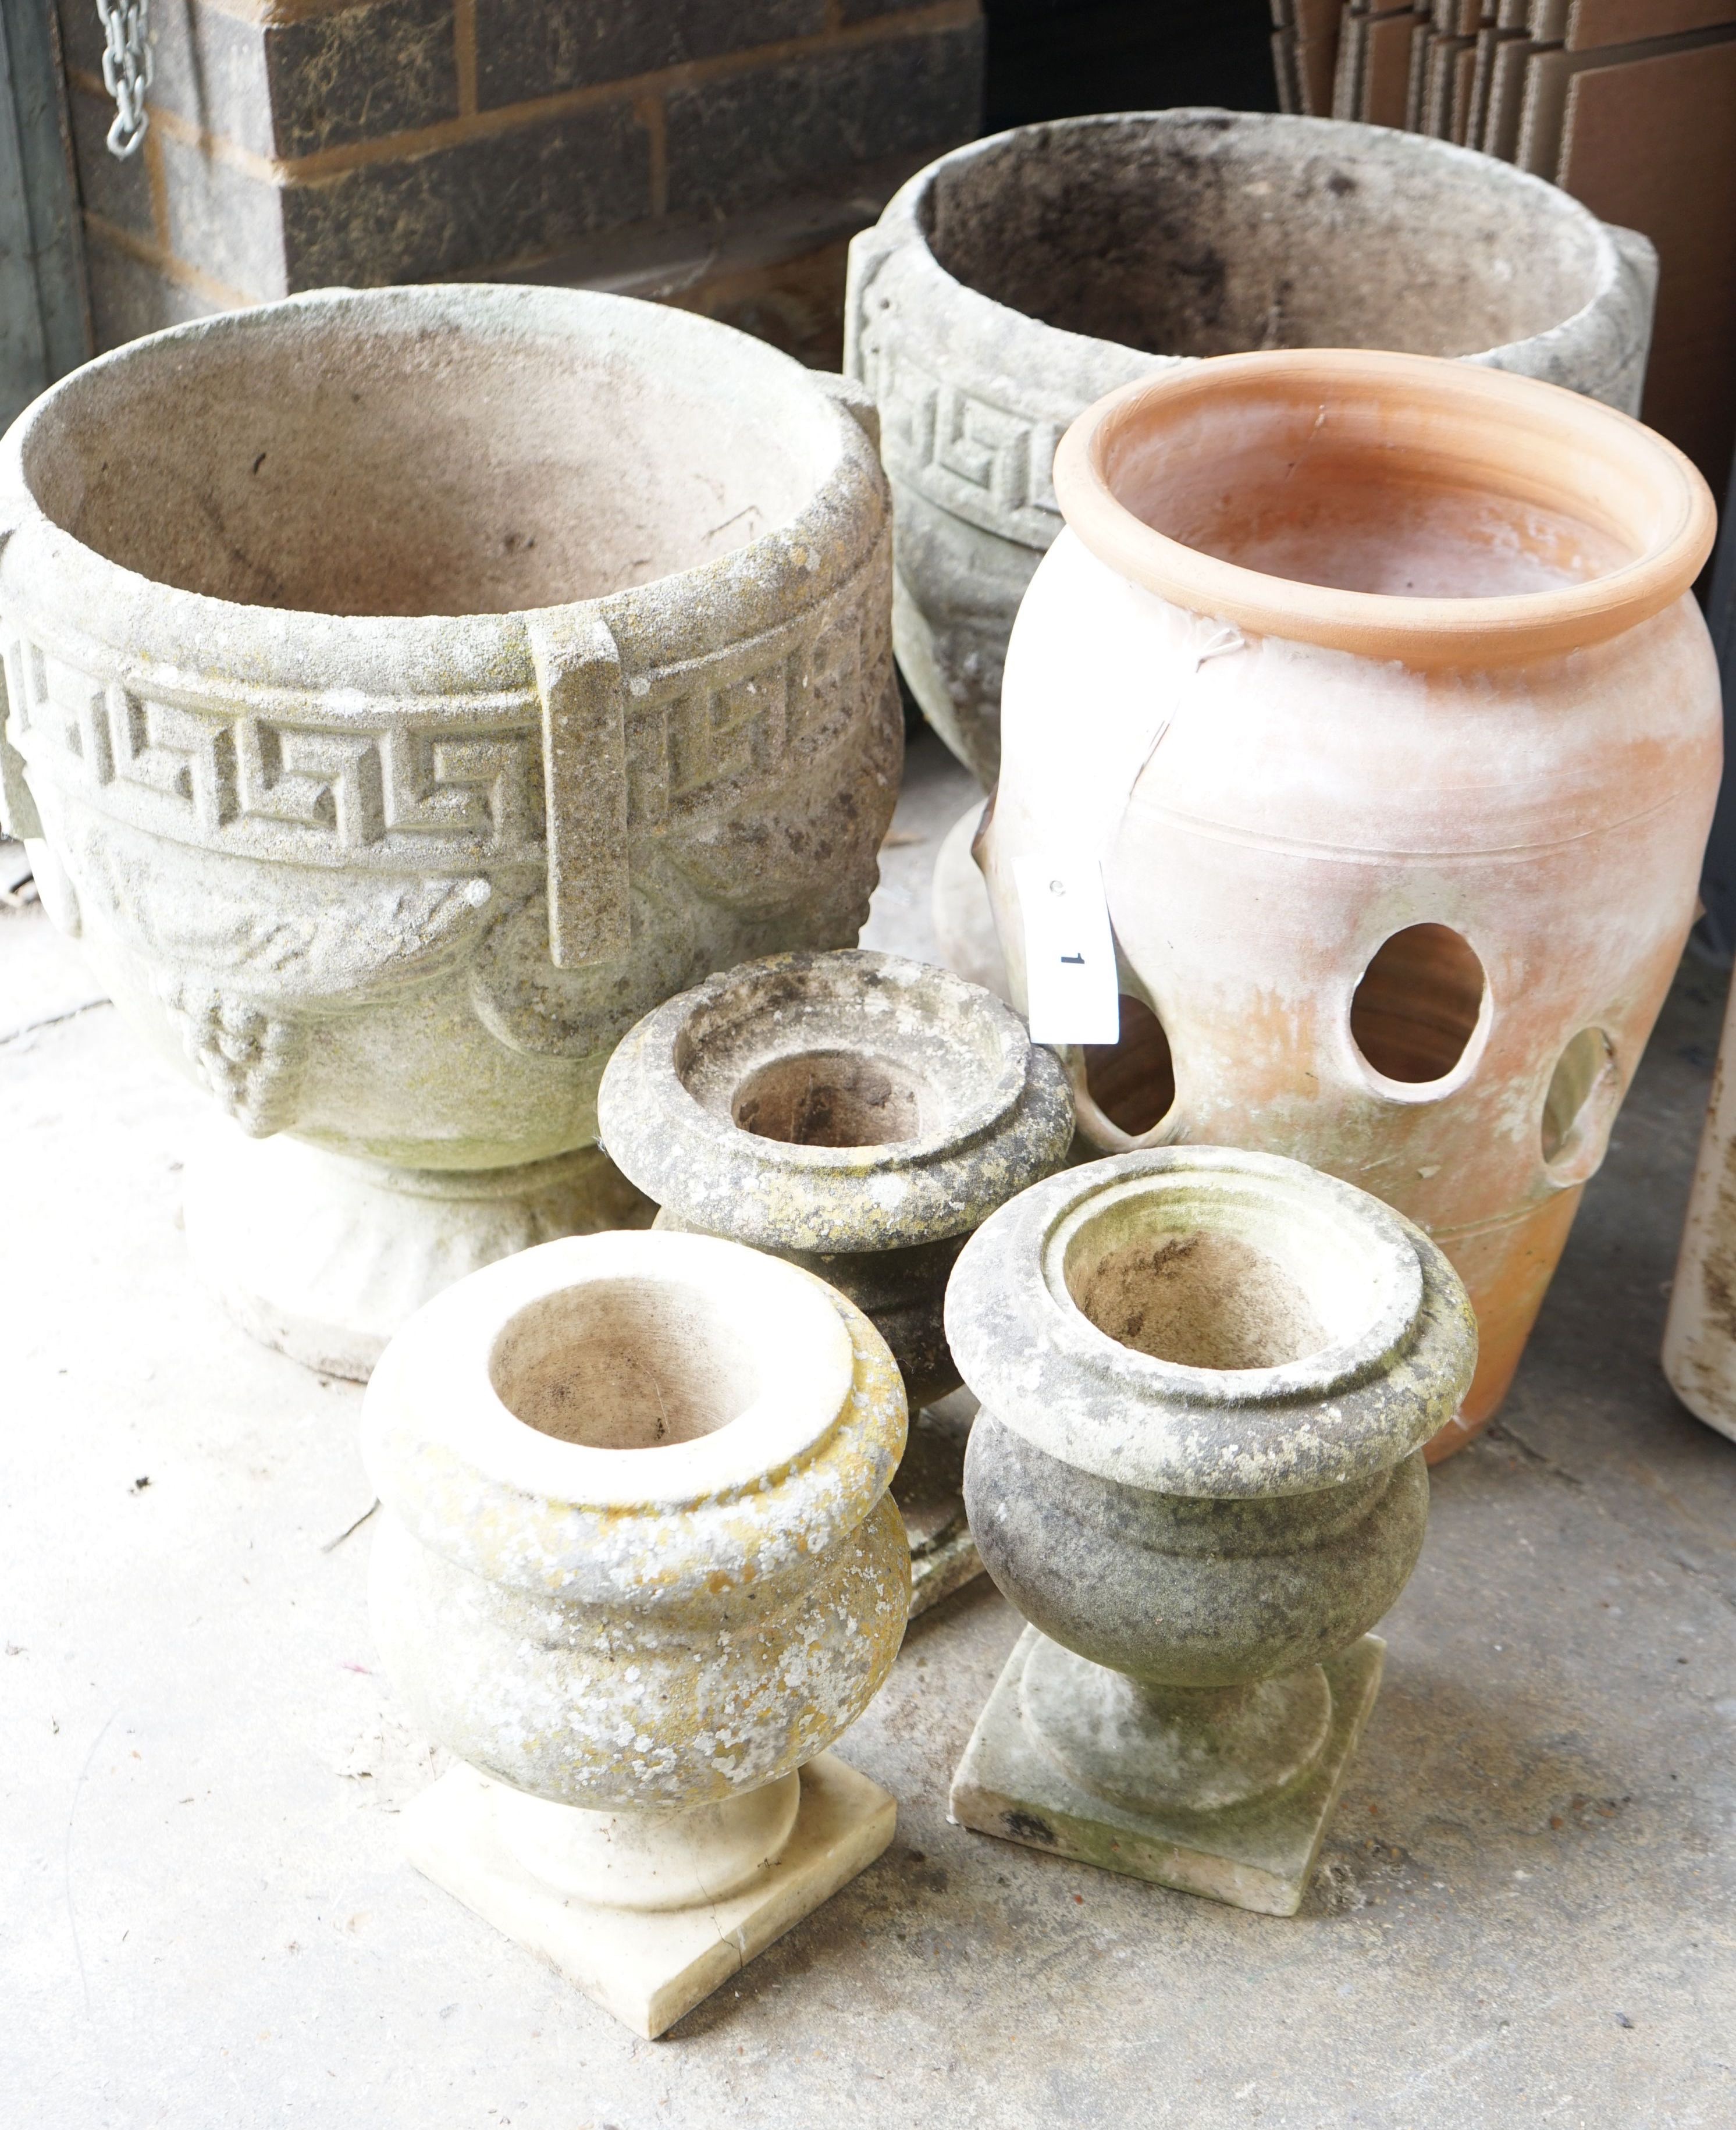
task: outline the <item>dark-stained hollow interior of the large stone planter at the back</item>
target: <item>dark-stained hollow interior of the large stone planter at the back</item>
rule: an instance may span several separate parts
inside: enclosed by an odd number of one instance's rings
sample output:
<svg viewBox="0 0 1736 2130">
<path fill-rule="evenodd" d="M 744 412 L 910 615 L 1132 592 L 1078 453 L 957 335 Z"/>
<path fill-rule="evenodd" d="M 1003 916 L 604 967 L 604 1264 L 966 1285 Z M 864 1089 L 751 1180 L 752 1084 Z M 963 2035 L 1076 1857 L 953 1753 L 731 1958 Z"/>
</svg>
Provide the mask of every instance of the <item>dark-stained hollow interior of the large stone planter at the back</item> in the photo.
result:
<svg viewBox="0 0 1736 2130">
<path fill-rule="evenodd" d="M 1393 134 L 1229 113 L 1029 128 L 944 164 L 922 204 L 967 288 L 1159 356 L 1476 354 L 1598 292 L 1595 236 L 1563 196 Z"/>
</svg>

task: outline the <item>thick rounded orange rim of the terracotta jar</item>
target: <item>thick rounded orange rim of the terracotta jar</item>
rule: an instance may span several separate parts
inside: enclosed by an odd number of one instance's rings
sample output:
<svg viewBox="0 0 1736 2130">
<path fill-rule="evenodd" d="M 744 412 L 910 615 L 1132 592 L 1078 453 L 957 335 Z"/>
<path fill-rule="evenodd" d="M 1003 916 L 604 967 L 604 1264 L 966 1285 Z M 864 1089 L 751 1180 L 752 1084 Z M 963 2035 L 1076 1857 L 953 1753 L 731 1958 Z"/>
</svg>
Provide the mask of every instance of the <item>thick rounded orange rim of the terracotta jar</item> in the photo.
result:
<svg viewBox="0 0 1736 2130">
<path fill-rule="evenodd" d="M 1223 560 L 1140 518 L 1142 462 L 1221 452 L 1252 411 L 1301 420 L 1363 469 L 1419 488 L 1472 490 L 1570 515 L 1640 552 L 1542 592 L 1440 599 L 1304 584 Z M 1331 445 L 1327 445 L 1331 447 Z M 1365 477 L 1365 475 L 1363 475 Z M 1212 356 L 1137 379 L 1071 424 L 1054 456 L 1071 530 L 1120 577 L 1250 635 L 1414 667 L 1514 665 L 1608 641 L 1687 592 L 1713 552 L 1717 509 L 1693 462 L 1632 415 L 1561 386 L 1442 356 L 1299 347 Z"/>
</svg>

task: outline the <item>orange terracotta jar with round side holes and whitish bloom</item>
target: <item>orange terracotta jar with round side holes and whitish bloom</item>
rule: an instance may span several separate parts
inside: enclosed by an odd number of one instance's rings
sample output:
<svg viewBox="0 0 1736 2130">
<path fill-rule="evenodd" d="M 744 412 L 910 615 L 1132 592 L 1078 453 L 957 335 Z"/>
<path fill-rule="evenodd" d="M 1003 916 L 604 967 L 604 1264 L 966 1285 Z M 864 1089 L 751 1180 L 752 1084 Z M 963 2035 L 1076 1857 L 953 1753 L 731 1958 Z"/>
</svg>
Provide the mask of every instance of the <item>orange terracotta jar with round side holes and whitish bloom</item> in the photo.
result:
<svg viewBox="0 0 1736 2130">
<path fill-rule="evenodd" d="M 1057 456 L 980 850 L 1103 867 L 1103 1152 L 1291 1154 L 1416 1220 L 1506 1393 L 1696 910 L 1719 684 L 1713 501 L 1661 437 L 1419 356 L 1227 356 Z M 1057 716 L 1065 705 L 1065 716 Z"/>
</svg>

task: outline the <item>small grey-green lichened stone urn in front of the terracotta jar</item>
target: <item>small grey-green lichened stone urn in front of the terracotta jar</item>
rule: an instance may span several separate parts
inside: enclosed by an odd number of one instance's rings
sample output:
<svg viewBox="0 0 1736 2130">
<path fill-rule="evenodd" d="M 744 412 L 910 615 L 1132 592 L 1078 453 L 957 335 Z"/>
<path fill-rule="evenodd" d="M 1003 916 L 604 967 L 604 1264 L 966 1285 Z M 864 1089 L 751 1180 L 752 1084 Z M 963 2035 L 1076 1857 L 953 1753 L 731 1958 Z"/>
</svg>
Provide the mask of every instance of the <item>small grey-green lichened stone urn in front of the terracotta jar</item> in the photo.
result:
<svg viewBox="0 0 1736 2130">
<path fill-rule="evenodd" d="M 1476 1361 L 1421 1229 L 1299 1161 L 1120 1154 L 965 1244 L 965 1500 L 1031 1621 L 952 1817 L 1293 1915 Z"/>
</svg>

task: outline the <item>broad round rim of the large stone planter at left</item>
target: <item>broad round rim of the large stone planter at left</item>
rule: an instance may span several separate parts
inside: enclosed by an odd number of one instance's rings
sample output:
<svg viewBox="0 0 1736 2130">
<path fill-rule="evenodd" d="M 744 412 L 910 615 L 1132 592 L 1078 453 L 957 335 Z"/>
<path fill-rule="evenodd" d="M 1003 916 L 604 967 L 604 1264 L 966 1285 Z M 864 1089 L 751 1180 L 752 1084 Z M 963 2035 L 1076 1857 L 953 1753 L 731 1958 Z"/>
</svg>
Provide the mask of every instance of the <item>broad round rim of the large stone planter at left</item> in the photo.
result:
<svg viewBox="0 0 1736 2130">
<path fill-rule="evenodd" d="M 812 437 L 790 437 L 790 422 L 799 417 L 788 405 L 775 420 L 792 449 L 809 443 L 814 456 L 826 460 L 818 486 L 784 522 L 707 562 L 586 599 L 492 611 L 334 613 L 294 601 L 251 605 L 145 575 L 62 524 L 87 509 L 87 469 L 77 452 L 64 449 L 75 424 L 89 424 L 94 413 L 119 420 L 147 394 L 173 400 L 200 360 L 222 362 L 236 351 L 245 358 L 249 343 L 271 337 L 279 349 L 294 343 L 305 362 L 322 364 L 330 360 L 322 341 L 343 332 L 396 337 L 405 364 L 415 368 L 437 362 L 445 337 L 462 334 L 469 351 L 490 339 L 545 341 L 560 349 L 573 345 L 579 328 L 592 356 L 611 345 L 626 349 L 648 330 L 671 345 L 686 341 L 699 375 L 735 375 L 746 398 L 758 383 L 782 386 L 788 396 L 788 386 L 805 379 L 814 386 Z M 743 420 L 746 413 L 743 407 Z M 104 671 L 149 675 L 158 688 L 173 686 L 190 641 L 196 641 L 200 688 L 222 682 L 236 701 L 249 699 L 262 711 L 279 692 L 266 682 L 266 671 L 273 654 L 281 662 L 285 616 L 294 616 L 294 692 L 332 690 L 337 726 L 345 722 L 349 692 L 413 697 L 454 688 L 469 694 L 479 686 L 535 688 L 533 620 L 582 616 L 605 622 L 620 643 L 630 686 L 639 643 L 656 641 L 660 667 L 684 654 L 697 658 L 711 648 L 720 605 L 731 611 L 733 635 L 752 637 L 786 620 L 792 596 L 803 607 L 814 605 L 854 575 L 863 541 L 852 526 L 863 518 L 878 526 L 886 515 L 884 477 L 869 428 L 861 411 L 852 413 L 848 392 L 829 390 L 818 373 L 790 356 L 716 320 L 665 305 L 596 290 L 501 283 L 311 290 L 130 341 L 72 371 L 26 407 L 0 437 L 0 526 L 11 528 L 9 539 L 0 537 L 0 571 L 13 575 L 28 562 L 32 611 L 49 613 L 64 641 L 87 645 Z M 162 509 L 170 492 L 164 490 Z M 271 633 L 268 643 L 262 628 Z M 454 699 L 454 709 L 462 707 Z"/>
</svg>

